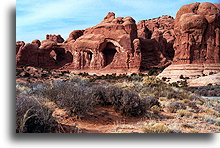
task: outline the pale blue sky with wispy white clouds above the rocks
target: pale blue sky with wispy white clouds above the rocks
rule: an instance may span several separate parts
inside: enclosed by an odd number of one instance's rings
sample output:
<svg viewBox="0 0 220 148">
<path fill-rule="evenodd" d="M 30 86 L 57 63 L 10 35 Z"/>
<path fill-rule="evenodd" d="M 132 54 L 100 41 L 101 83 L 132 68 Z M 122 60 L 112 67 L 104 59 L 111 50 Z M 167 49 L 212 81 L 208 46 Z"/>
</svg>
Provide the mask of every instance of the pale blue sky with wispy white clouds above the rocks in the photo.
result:
<svg viewBox="0 0 220 148">
<path fill-rule="evenodd" d="M 66 39 L 72 30 L 95 26 L 108 12 L 136 22 L 161 15 L 175 17 L 182 5 L 220 0 L 17 0 L 16 40 L 44 40 L 46 34 Z"/>
</svg>

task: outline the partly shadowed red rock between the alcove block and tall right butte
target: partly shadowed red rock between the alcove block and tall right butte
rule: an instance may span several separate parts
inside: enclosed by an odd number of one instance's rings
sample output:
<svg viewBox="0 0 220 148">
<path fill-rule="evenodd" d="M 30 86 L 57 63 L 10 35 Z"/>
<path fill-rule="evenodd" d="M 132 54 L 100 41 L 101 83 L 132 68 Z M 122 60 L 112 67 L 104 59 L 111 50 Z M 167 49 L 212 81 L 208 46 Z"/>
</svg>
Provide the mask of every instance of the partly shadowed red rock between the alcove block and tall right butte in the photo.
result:
<svg viewBox="0 0 220 148">
<path fill-rule="evenodd" d="M 174 18 L 164 15 L 138 22 L 138 38 L 141 40 L 141 68 L 164 66 L 174 56 Z"/>
</svg>

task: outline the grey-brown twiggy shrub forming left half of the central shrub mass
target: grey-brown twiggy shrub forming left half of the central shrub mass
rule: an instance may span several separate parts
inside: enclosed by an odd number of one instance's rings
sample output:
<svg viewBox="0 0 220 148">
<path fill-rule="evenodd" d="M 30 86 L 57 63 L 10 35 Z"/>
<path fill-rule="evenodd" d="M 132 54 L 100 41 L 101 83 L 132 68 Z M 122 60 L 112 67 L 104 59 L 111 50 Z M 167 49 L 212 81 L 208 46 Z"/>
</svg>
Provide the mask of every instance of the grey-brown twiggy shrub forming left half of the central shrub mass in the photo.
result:
<svg viewBox="0 0 220 148">
<path fill-rule="evenodd" d="M 72 86 L 69 83 L 52 86 L 43 91 L 43 96 L 53 101 L 60 108 L 65 108 L 77 116 L 82 116 L 92 110 L 95 105 L 92 90 L 80 84 Z"/>
</svg>

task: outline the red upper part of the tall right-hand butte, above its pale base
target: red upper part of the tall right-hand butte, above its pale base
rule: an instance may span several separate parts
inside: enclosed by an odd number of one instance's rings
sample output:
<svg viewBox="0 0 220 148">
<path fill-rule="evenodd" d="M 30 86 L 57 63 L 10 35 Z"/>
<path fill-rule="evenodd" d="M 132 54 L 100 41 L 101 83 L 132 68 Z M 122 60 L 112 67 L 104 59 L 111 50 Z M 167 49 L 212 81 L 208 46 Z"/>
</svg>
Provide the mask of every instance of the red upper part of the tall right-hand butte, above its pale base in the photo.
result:
<svg viewBox="0 0 220 148">
<path fill-rule="evenodd" d="M 184 5 L 175 19 L 176 64 L 220 63 L 219 4 L 193 3 Z"/>
</svg>

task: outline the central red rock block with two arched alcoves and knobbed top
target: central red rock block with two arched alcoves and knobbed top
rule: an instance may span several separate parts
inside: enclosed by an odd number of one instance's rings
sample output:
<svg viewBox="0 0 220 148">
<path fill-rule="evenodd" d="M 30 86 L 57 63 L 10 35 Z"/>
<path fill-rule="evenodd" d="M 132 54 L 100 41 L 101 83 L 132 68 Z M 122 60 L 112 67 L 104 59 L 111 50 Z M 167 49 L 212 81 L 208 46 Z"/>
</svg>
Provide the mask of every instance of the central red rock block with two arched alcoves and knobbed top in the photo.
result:
<svg viewBox="0 0 220 148">
<path fill-rule="evenodd" d="M 114 13 L 108 13 L 100 24 L 70 34 L 66 45 L 74 58 L 69 68 L 78 70 L 138 68 L 138 63 L 134 62 L 135 38 L 137 27 L 133 18 L 115 18 Z"/>
</svg>

